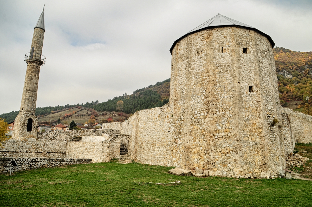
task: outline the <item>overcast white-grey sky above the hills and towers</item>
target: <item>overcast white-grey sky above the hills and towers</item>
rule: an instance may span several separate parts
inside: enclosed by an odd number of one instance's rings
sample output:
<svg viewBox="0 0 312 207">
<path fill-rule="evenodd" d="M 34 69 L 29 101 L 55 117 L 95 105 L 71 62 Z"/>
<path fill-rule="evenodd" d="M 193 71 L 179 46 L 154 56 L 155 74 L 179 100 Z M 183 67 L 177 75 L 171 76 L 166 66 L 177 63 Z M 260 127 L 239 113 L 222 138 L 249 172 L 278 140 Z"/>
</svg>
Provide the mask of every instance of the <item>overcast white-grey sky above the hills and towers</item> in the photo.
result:
<svg viewBox="0 0 312 207">
<path fill-rule="evenodd" d="M 218 13 L 276 46 L 312 51 L 312 1 L 0 1 L 0 113 L 20 108 L 33 28 L 45 4 L 37 107 L 100 102 L 170 77 L 173 41 Z"/>
</svg>

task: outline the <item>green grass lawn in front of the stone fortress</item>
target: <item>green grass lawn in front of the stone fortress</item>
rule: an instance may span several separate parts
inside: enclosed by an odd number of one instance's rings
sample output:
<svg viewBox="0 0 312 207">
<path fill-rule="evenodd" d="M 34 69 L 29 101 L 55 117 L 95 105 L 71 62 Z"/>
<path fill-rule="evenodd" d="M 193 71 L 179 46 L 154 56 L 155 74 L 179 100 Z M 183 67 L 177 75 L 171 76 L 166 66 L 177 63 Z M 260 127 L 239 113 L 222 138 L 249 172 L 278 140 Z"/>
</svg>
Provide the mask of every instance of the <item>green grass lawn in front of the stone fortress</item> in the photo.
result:
<svg viewBox="0 0 312 207">
<path fill-rule="evenodd" d="M 0 175 L 0 206 L 312 206 L 312 181 L 197 178 L 169 169 L 112 161 Z M 181 184 L 155 184 L 175 180 Z"/>
</svg>

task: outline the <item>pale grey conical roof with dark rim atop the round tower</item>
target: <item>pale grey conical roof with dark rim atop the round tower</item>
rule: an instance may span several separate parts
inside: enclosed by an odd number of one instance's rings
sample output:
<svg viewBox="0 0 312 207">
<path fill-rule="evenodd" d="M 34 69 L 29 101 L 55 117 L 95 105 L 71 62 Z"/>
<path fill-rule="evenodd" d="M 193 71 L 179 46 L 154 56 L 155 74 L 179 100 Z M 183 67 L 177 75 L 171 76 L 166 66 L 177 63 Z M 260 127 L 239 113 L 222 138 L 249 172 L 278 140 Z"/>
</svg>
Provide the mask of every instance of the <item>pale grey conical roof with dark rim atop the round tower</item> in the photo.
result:
<svg viewBox="0 0 312 207">
<path fill-rule="evenodd" d="M 272 38 L 269 35 L 267 35 L 267 34 L 261 32 L 261 31 L 257 30 L 255 27 L 249 26 L 249 25 L 241 23 L 241 22 L 238 22 L 238 21 L 236 21 L 234 19 L 231 19 L 229 17 L 223 16 L 220 13 L 218 13 L 216 16 L 212 17 L 207 22 L 202 23 L 201 25 L 197 26 L 193 30 L 189 31 L 187 34 L 185 34 L 182 37 L 180 37 L 178 40 L 174 41 L 173 45 L 170 48 L 170 53 L 172 53 L 172 50 L 173 50 L 174 46 L 176 45 L 176 43 L 178 41 L 180 41 L 181 39 L 183 39 L 184 37 L 186 37 L 186 36 L 188 36 L 190 34 L 193 34 L 193 33 L 197 32 L 197 31 L 202 31 L 202 30 L 205 30 L 205 29 L 209 29 L 209 28 L 225 27 L 225 26 L 244 27 L 244 28 L 247 28 L 247 29 L 251 29 L 251 30 L 257 31 L 261 35 L 266 36 L 266 38 L 268 38 L 268 40 L 270 41 L 270 43 L 272 45 L 272 48 L 275 45 L 274 41 L 272 40 Z"/>
</svg>

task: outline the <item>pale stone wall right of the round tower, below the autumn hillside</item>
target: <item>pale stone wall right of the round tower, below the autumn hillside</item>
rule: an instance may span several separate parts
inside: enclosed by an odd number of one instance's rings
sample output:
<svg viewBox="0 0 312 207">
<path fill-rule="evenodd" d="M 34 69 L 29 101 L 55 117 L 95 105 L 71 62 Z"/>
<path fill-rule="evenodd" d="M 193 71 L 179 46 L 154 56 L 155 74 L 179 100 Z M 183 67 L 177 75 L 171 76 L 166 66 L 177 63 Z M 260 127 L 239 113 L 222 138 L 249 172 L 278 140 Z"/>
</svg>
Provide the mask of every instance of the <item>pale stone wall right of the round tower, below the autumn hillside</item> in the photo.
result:
<svg viewBox="0 0 312 207">
<path fill-rule="evenodd" d="M 281 107 L 281 109 L 288 115 L 295 142 L 312 142 L 312 116 L 290 108 Z"/>
</svg>

